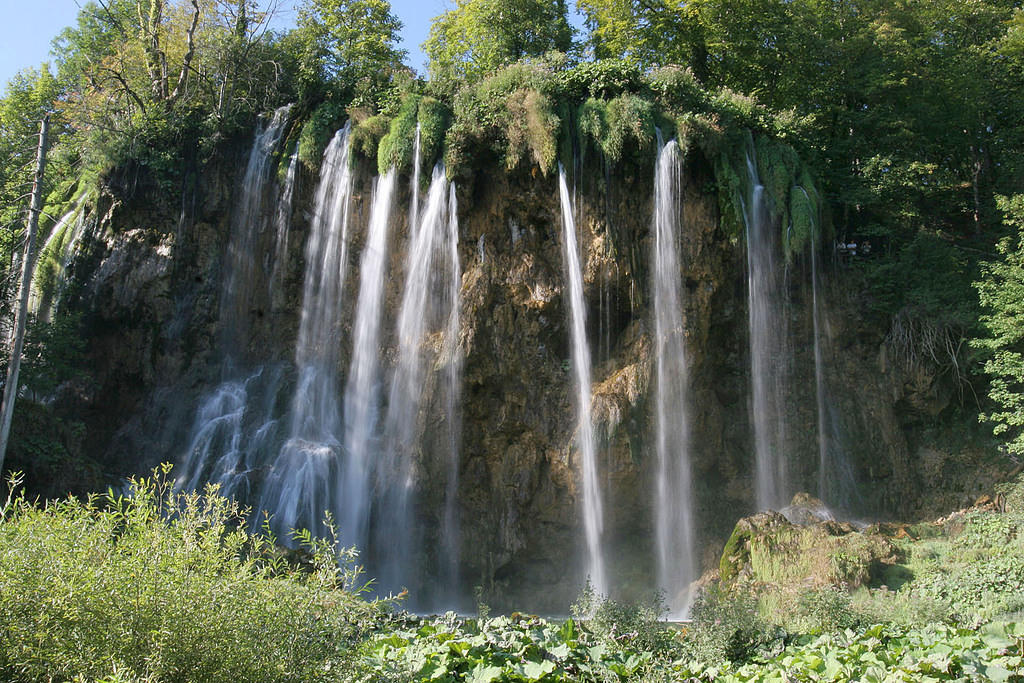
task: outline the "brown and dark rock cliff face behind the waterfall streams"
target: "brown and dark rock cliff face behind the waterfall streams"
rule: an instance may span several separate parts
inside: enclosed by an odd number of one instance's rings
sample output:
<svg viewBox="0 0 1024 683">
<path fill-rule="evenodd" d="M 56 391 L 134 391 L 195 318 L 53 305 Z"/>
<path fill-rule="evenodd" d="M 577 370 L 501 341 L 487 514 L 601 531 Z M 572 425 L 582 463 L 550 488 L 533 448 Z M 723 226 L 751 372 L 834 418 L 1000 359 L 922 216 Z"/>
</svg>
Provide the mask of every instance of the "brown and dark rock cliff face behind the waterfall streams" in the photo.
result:
<svg viewBox="0 0 1024 683">
<path fill-rule="evenodd" d="M 74 264 L 96 389 L 79 397 L 91 455 L 111 474 L 180 462 L 200 397 L 221 378 L 218 302 L 225 245 L 245 150 L 185 183 L 178 197 L 138 184 L 108 187 Z M 597 160 L 574 175 L 584 252 L 585 296 L 594 359 L 593 409 L 605 497 L 605 554 L 624 595 L 652 586 L 653 443 L 650 230 L 653 160 L 604 169 Z M 239 357 L 285 369 L 301 304 L 303 245 L 312 174 L 299 178 L 287 263 L 279 291 L 256 299 Z M 571 181 L 571 180 L 570 180 Z M 408 187 L 408 181 L 402 181 Z M 742 241 L 720 227 L 712 165 L 699 152 L 685 166 L 683 272 L 691 372 L 693 481 L 703 568 L 715 566 L 735 521 L 754 510 L 753 430 L 745 261 Z M 275 190 L 273 190 L 275 191 Z M 358 256 L 366 239 L 371 170 L 359 168 L 348 251 L 345 321 L 338 334 L 339 374 L 348 367 Z M 482 587 L 499 607 L 562 611 L 580 588 L 583 556 L 580 463 L 569 358 L 567 293 L 561 255 L 557 180 L 538 169 L 492 169 L 458 186 L 464 354 L 458 515 L 464 594 Z M 408 206 L 408 189 L 398 207 Z M 393 319 L 400 301 L 406 212 L 396 214 L 385 294 L 382 357 L 393 362 Z M 254 258 L 272 253 L 258 238 Z M 794 490 L 815 490 L 818 438 L 809 264 L 788 266 L 792 378 L 786 397 Z M 855 481 L 852 512 L 863 517 L 934 511 L 935 488 L 973 496 L 970 482 L 938 474 L 965 461 L 934 425 L 951 386 L 901 367 L 885 332 L 844 295 L 842 268 L 826 268 L 821 297 L 833 303 L 824 335 L 835 447 Z M 432 343 L 440 344 L 434 339 Z M 428 377 L 439 382 L 440 369 Z M 341 386 L 344 386 L 341 384 Z M 439 562 L 437 530 L 444 498 L 447 443 L 440 391 L 422 418 L 417 470 L 425 565 Z M 283 389 L 269 400 L 283 405 Z M 956 486 L 962 486 L 961 493 Z M 827 502 L 827 501 L 826 501 Z M 958 502 L 958 501 L 957 501 Z"/>
</svg>

